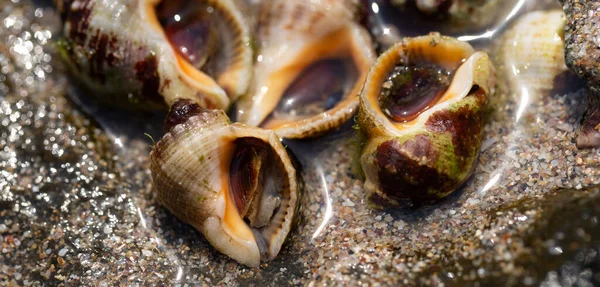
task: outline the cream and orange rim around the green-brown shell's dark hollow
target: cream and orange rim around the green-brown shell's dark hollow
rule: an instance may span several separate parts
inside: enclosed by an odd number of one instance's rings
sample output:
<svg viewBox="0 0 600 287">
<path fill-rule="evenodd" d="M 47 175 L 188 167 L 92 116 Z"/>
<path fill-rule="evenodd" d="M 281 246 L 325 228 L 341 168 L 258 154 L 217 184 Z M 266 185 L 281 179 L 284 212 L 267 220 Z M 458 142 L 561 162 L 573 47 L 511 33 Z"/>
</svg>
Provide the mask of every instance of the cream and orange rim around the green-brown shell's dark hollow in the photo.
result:
<svg viewBox="0 0 600 287">
<path fill-rule="evenodd" d="M 367 77 L 365 86 L 361 93 L 361 100 L 364 102 L 364 108 L 367 110 L 366 113 L 370 114 L 374 117 L 374 120 L 377 122 L 376 124 L 390 135 L 400 137 L 402 135 L 416 132 L 423 128 L 427 119 L 437 111 L 444 110 L 449 106 L 459 102 L 464 97 L 469 94 L 471 88 L 474 85 L 479 86 L 489 93 L 489 88 L 491 86 L 490 78 L 488 75 L 490 74 L 491 66 L 489 64 L 489 57 L 484 52 L 475 52 L 473 48 L 467 43 L 458 42 L 456 40 L 451 40 L 451 42 L 447 41 L 447 38 L 440 38 L 436 40 L 436 45 L 431 46 L 431 50 L 428 51 L 430 55 L 426 55 L 424 58 L 412 59 L 414 55 L 410 53 L 410 45 L 412 44 L 410 41 L 420 42 L 427 41 L 430 42 L 435 37 L 439 37 L 437 34 L 417 37 L 413 39 L 408 39 L 401 42 L 390 49 L 388 49 L 385 53 L 383 53 L 375 65 L 371 68 L 369 75 Z M 444 53 L 444 48 L 438 49 L 438 45 L 463 45 L 463 47 L 454 47 L 455 49 L 464 49 L 462 51 L 465 57 L 458 57 L 454 60 L 448 61 L 444 58 L 447 53 Z M 416 45 L 419 45 L 417 43 Z M 436 51 L 436 49 L 438 49 Z M 438 103 L 436 103 L 433 107 L 427 109 L 426 111 L 419 114 L 415 119 L 409 121 L 408 123 L 396 123 L 390 120 L 379 106 L 377 101 L 377 96 L 381 90 L 381 83 L 384 82 L 385 77 L 388 75 L 388 71 L 391 70 L 395 65 L 398 64 L 406 64 L 406 63 L 415 63 L 419 61 L 428 61 L 433 62 L 442 66 L 445 69 L 455 70 L 456 72 L 452 78 L 452 82 L 448 88 L 448 90 L 441 96 Z M 481 76 L 478 73 L 482 73 Z"/>
</svg>

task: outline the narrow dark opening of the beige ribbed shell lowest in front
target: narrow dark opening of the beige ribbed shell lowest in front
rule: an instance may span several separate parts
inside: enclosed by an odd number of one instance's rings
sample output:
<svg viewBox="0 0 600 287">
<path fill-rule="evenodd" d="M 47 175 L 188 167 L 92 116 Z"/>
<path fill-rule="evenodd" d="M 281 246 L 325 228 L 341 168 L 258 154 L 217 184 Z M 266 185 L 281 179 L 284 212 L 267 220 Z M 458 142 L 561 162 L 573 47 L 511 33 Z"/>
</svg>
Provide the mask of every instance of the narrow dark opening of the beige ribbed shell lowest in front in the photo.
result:
<svg viewBox="0 0 600 287">
<path fill-rule="evenodd" d="M 268 260 L 271 237 L 280 226 L 289 203 L 289 182 L 283 162 L 273 148 L 257 138 L 233 142 L 229 166 L 230 194 L 239 216 L 254 234 L 261 260 Z"/>
</svg>

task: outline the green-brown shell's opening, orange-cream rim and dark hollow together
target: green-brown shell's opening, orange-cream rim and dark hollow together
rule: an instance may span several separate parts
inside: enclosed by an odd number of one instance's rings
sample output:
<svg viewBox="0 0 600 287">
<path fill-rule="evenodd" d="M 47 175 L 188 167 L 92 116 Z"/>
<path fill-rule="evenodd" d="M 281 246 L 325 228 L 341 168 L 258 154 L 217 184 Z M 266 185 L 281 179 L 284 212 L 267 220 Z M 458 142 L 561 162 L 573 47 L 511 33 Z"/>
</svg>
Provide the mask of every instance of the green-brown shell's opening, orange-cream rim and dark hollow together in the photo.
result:
<svg viewBox="0 0 600 287">
<path fill-rule="evenodd" d="M 362 92 L 364 108 L 387 131 L 404 134 L 479 88 L 487 93 L 489 73 L 487 54 L 467 43 L 437 33 L 406 39 L 371 69 Z"/>
</svg>

